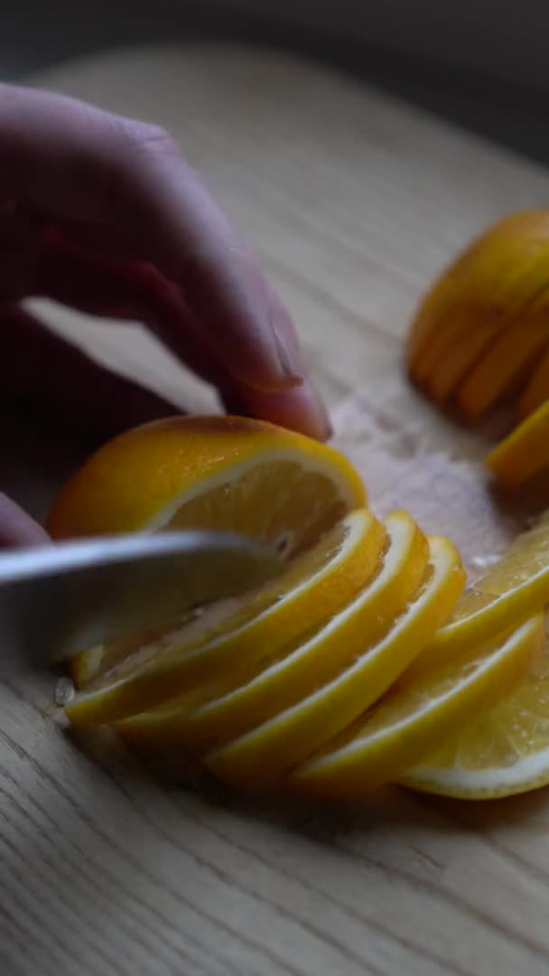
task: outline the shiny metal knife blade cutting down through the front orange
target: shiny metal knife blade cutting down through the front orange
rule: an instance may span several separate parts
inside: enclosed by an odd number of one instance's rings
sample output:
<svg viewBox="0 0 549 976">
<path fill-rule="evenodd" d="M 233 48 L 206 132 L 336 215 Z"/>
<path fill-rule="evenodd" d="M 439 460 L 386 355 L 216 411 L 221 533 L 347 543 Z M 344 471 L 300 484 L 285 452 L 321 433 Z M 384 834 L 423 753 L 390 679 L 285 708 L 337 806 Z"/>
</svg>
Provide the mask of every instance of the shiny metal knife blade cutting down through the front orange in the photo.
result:
<svg viewBox="0 0 549 976">
<path fill-rule="evenodd" d="M 276 576 L 275 549 L 232 533 L 98 537 L 0 555 L 0 678 L 66 661 L 106 640 Z"/>
</svg>

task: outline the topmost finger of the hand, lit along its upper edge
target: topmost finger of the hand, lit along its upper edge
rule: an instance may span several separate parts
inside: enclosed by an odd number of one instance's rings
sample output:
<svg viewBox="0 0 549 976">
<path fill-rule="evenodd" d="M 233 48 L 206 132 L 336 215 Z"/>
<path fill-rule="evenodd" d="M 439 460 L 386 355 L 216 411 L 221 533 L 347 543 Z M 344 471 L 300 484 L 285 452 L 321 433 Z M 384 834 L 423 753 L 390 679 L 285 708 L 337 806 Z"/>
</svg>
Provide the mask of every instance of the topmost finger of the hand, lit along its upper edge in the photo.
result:
<svg viewBox="0 0 549 976">
<path fill-rule="evenodd" d="M 0 198 L 53 223 L 116 228 L 117 248 L 183 290 L 206 346 L 247 386 L 298 385 L 294 328 L 248 249 L 161 130 L 0 86 Z M 174 325 L 171 345 L 185 356 Z"/>
</svg>

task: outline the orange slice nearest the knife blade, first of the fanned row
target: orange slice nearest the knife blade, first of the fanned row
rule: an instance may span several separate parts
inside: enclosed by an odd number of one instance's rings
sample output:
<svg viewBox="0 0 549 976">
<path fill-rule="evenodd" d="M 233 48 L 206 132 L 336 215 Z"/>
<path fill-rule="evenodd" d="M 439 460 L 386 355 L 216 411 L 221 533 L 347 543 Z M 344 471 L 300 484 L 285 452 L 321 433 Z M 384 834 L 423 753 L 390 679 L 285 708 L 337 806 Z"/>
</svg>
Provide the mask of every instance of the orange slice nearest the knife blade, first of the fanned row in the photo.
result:
<svg viewBox="0 0 549 976">
<path fill-rule="evenodd" d="M 386 534 L 371 511 L 358 509 L 325 533 L 314 549 L 245 597 L 218 630 L 193 643 L 177 640 L 137 668 L 130 657 L 105 684 L 66 708 L 74 725 L 96 726 L 145 712 L 233 672 L 276 655 L 299 635 L 331 617 L 371 578 Z"/>
</svg>

